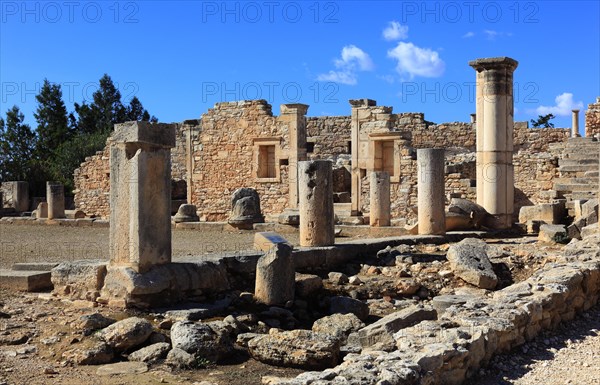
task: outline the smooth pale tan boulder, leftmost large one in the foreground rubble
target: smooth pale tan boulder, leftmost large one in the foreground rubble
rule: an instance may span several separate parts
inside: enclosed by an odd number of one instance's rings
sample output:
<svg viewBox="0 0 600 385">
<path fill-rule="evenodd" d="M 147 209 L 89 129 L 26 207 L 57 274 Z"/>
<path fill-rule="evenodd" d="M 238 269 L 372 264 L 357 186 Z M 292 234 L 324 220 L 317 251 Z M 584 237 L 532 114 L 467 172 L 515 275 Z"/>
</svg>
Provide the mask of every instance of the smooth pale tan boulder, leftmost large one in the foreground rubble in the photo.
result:
<svg viewBox="0 0 600 385">
<path fill-rule="evenodd" d="M 152 334 L 150 321 L 130 317 L 102 329 L 98 337 L 115 351 L 125 351 L 146 342 Z"/>
</svg>

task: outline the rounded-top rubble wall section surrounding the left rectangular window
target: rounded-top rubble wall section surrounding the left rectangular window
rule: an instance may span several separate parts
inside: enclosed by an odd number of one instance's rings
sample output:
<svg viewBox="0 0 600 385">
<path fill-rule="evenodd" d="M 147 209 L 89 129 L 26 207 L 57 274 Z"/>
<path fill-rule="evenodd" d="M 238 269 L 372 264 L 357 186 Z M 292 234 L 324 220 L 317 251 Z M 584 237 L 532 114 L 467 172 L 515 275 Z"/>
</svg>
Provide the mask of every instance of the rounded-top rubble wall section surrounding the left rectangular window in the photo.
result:
<svg viewBox="0 0 600 385">
<path fill-rule="evenodd" d="M 260 181 L 256 176 L 256 139 L 278 143 L 279 177 Z M 287 124 L 273 116 L 264 100 L 217 103 L 202 115 L 202 130 L 193 138 L 194 170 L 191 201 L 207 221 L 229 217 L 231 194 L 240 187 L 258 191 L 264 214 L 283 211 L 288 200 L 289 150 Z"/>
</svg>

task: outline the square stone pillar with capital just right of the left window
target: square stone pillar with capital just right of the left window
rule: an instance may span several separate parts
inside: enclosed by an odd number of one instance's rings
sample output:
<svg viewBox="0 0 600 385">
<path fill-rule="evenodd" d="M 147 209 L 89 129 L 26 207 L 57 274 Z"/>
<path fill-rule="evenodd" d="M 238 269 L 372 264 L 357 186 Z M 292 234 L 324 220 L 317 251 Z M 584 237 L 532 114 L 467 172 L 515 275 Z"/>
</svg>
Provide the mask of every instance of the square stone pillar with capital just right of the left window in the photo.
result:
<svg viewBox="0 0 600 385">
<path fill-rule="evenodd" d="M 287 207 L 298 208 L 298 162 L 305 161 L 306 155 L 306 104 L 282 104 L 279 119 L 288 124 L 289 135 L 289 197 Z"/>
</svg>

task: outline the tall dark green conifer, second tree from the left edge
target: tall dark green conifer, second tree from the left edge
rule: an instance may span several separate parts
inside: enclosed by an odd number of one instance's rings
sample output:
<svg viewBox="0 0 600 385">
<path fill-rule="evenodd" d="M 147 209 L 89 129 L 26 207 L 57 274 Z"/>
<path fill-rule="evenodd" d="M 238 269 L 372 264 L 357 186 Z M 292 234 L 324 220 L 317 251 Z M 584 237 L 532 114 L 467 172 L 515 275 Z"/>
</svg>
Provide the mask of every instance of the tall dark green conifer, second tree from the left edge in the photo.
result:
<svg viewBox="0 0 600 385">
<path fill-rule="evenodd" d="M 52 153 L 72 135 L 69 127 L 67 108 L 62 100 L 59 84 L 51 84 L 44 79 L 40 93 L 35 97 L 38 102 L 33 114 L 38 123 L 36 152 L 40 159 L 52 159 Z"/>
</svg>

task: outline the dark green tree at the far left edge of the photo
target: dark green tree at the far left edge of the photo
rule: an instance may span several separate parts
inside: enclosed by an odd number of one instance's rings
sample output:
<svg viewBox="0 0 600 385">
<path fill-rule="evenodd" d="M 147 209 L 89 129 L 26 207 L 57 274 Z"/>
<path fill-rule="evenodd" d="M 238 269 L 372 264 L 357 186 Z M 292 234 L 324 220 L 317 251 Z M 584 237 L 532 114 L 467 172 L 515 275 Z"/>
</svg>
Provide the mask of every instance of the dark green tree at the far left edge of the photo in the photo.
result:
<svg viewBox="0 0 600 385">
<path fill-rule="evenodd" d="M 29 181 L 35 145 L 35 133 L 19 107 L 6 112 L 0 119 L 0 179 Z"/>
</svg>

